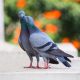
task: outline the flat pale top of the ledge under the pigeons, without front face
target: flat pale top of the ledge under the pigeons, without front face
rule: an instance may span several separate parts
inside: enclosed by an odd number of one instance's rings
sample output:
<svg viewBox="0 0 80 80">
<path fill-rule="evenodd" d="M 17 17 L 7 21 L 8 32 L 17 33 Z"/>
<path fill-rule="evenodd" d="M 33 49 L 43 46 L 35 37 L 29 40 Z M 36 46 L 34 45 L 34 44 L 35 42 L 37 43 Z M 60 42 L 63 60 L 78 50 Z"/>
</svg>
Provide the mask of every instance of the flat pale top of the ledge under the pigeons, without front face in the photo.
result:
<svg viewBox="0 0 80 80">
<path fill-rule="evenodd" d="M 0 53 L 0 72 L 23 72 L 26 71 L 32 71 L 34 72 L 35 69 L 24 69 L 24 66 L 28 66 L 29 64 L 29 58 L 26 55 L 25 52 L 23 52 L 22 50 L 16 50 L 13 52 L 5 52 L 3 51 L 2 53 Z M 36 59 L 34 58 L 34 63 L 33 66 L 36 65 Z M 41 58 L 40 61 L 40 65 L 43 66 L 43 60 Z M 56 72 L 61 71 L 64 72 L 64 70 L 70 70 L 73 72 L 79 72 L 80 70 L 80 62 L 79 62 L 79 58 L 74 58 L 72 60 L 72 67 L 67 69 L 65 68 L 61 63 L 59 65 L 51 65 L 51 68 L 49 69 L 49 71 L 55 70 Z M 36 69 L 37 70 L 37 69 Z M 41 71 L 41 70 L 38 70 Z M 45 70 L 43 70 L 45 71 Z M 48 71 L 48 70 L 47 70 Z"/>
</svg>

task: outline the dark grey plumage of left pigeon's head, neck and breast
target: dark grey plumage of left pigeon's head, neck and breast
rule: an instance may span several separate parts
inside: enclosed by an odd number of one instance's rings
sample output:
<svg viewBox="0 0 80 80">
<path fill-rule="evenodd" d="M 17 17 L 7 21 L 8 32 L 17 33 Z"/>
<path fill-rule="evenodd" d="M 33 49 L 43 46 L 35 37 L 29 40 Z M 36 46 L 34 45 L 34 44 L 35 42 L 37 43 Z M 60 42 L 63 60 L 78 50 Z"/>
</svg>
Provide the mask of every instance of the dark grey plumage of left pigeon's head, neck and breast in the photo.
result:
<svg viewBox="0 0 80 80">
<path fill-rule="evenodd" d="M 30 66 L 32 67 L 33 56 L 36 56 L 37 61 L 39 61 L 39 57 L 36 51 L 33 50 L 33 48 L 31 47 L 31 44 L 29 42 L 29 31 L 28 31 L 28 27 L 26 24 L 27 16 L 25 16 L 24 11 L 19 11 L 18 16 L 20 18 L 20 23 L 21 23 L 21 32 L 20 32 L 18 42 L 19 42 L 20 47 L 24 51 L 26 51 L 26 53 L 28 54 L 30 61 L 31 61 Z"/>
</svg>

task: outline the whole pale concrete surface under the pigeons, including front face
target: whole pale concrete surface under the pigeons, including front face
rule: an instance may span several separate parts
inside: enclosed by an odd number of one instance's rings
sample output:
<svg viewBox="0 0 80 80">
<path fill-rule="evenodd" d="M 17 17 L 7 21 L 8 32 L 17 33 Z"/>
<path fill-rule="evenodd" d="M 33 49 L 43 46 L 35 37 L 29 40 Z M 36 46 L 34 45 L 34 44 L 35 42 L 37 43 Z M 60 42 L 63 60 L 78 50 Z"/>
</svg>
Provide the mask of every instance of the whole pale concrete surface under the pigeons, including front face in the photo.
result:
<svg viewBox="0 0 80 80">
<path fill-rule="evenodd" d="M 72 67 L 49 64 L 50 69 L 29 69 L 29 58 L 19 47 L 5 44 L 0 50 L 0 80 L 80 80 L 80 58 L 72 59 Z M 9 46 L 9 47 L 8 47 Z M 36 65 L 34 58 L 33 66 Z M 40 60 L 43 66 L 43 60 Z"/>
</svg>

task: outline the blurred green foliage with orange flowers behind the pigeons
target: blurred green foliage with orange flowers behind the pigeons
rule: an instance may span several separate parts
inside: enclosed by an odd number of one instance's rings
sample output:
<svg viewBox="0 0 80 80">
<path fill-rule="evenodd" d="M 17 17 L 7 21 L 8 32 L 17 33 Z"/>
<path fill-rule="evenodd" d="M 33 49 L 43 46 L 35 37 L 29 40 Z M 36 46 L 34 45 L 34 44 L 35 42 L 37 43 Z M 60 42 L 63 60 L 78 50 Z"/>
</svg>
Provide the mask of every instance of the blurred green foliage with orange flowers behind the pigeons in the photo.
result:
<svg viewBox="0 0 80 80">
<path fill-rule="evenodd" d="M 72 43 L 80 55 L 80 0 L 4 0 L 4 38 L 18 44 L 19 10 L 56 43 Z"/>
</svg>

